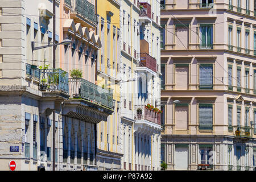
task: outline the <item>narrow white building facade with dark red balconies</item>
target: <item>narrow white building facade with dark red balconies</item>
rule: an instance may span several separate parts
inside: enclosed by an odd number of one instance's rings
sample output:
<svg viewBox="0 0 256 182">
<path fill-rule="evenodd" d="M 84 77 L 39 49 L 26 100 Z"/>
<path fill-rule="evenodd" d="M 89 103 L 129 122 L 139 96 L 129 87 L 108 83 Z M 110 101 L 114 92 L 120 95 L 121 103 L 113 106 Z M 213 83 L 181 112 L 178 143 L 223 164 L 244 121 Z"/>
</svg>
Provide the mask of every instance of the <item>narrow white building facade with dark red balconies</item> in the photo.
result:
<svg viewBox="0 0 256 182">
<path fill-rule="evenodd" d="M 158 2 L 121 1 L 120 139 L 123 170 L 160 169 L 160 114 L 156 109 L 160 104 L 159 22 Z"/>
</svg>

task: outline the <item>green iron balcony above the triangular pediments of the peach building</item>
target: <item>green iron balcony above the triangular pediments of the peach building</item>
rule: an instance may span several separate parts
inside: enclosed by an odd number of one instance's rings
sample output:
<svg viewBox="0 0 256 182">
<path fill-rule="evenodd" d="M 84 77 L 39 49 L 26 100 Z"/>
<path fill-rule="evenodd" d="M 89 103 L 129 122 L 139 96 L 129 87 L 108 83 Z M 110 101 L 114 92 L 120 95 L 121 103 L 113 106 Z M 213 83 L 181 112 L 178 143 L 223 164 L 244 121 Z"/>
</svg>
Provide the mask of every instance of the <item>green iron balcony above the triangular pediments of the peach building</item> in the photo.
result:
<svg viewBox="0 0 256 182">
<path fill-rule="evenodd" d="M 71 10 L 71 18 L 89 20 L 96 24 L 97 16 L 95 14 L 95 7 L 87 0 L 76 0 L 75 6 Z"/>
</svg>

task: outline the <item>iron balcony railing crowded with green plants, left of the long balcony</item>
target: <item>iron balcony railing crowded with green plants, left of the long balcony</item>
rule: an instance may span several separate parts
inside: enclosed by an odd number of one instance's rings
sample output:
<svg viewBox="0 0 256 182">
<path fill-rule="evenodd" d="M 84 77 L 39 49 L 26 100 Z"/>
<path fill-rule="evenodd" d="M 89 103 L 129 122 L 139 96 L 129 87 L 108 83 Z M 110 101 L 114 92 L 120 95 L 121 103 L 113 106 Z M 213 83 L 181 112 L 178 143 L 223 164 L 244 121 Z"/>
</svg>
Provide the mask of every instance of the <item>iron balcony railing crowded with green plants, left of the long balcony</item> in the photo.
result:
<svg viewBox="0 0 256 182">
<path fill-rule="evenodd" d="M 68 73 L 62 69 L 41 69 L 40 90 L 68 94 Z"/>
</svg>

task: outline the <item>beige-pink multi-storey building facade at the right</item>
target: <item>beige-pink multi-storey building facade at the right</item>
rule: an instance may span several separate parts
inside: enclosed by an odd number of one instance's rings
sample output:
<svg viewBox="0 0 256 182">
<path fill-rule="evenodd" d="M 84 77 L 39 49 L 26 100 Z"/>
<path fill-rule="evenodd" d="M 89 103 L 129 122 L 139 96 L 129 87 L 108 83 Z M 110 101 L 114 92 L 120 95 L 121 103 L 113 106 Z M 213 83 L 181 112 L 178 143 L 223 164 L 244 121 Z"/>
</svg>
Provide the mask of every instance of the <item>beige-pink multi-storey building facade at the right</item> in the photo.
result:
<svg viewBox="0 0 256 182">
<path fill-rule="evenodd" d="M 167 169 L 254 170 L 255 2 L 161 3 Z"/>
</svg>

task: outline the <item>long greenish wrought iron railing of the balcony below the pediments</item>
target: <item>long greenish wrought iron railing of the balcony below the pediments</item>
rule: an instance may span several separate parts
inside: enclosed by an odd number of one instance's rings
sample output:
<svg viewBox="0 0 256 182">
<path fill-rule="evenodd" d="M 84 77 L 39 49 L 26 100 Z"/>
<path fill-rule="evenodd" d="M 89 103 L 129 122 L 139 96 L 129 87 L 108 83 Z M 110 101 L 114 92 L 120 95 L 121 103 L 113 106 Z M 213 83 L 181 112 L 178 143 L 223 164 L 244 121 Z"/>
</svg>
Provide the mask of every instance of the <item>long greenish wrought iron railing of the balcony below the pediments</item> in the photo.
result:
<svg viewBox="0 0 256 182">
<path fill-rule="evenodd" d="M 113 109 L 113 90 L 103 89 L 83 78 L 69 78 L 69 95 Z"/>
</svg>

